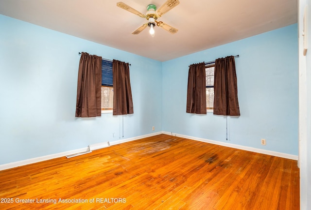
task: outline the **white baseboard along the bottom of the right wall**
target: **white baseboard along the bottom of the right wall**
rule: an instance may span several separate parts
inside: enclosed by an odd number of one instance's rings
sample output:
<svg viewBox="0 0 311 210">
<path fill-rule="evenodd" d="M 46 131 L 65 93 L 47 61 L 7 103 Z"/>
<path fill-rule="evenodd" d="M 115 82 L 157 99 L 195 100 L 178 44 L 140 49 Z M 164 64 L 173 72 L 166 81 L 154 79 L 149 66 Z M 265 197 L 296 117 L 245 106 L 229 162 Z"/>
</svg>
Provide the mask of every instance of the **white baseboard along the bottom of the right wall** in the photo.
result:
<svg viewBox="0 0 311 210">
<path fill-rule="evenodd" d="M 172 135 L 171 132 L 162 132 L 162 133 L 166 134 L 166 135 Z M 252 152 L 257 152 L 257 153 L 261 153 L 261 154 L 267 154 L 267 155 L 272 155 L 272 156 L 276 156 L 276 157 L 291 159 L 291 160 L 298 160 L 297 155 L 281 153 L 281 152 L 276 152 L 276 151 L 270 151 L 270 150 L 262 150 L 262 149 L 252 148 L 252 147 L 245 147 L 245 146 L 241 146 L 241 145 L 229 144 L 226 142 L 214 141 L 214 140 L 209 140 L 209 139 L 205 139 L 205 138 L 198 138 L 198 137 L 193 137 L 193 136 L 189 136 L 189 135 L 180 135 L 180 134 L 175 134 L 175 133 L 173 133 L 173 135 L 178 136 L 178 137 L 182 137 L 182 138 L 188 138 L 191 140 L 202 141 L 202 142 L 206 142 L 206 143 L 210 143 L 210 144 L 220 145 L 220 146 L 224 146 L 224 147 L 230 147 L 230 148 L 239 149 L 239 150 L 252 151 Z"/>
</svg>

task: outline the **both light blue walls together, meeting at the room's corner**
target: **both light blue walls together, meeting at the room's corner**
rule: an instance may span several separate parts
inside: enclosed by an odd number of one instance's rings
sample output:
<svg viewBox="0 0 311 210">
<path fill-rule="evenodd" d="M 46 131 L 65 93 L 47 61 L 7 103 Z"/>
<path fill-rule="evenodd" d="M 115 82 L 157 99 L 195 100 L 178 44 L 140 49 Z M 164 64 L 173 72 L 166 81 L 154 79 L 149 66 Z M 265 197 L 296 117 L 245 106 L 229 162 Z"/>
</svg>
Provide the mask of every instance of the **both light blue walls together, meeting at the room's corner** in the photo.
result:
<svg viewBox="0 0 311 210">
<path fill-rule="evenodd" d="M 166 62 L 3 15 L 0 26 L 0 165 L 159 131 L 226 142 L 225 117 L 186 113 L 188 66 L 237 54 L 241 117 L 228 118 L 228 143 L 298 154 L 296 24 Z M 123 137 L 122 116 L 74 117 L 82 51 L 132 64 Z"/>
</svg>

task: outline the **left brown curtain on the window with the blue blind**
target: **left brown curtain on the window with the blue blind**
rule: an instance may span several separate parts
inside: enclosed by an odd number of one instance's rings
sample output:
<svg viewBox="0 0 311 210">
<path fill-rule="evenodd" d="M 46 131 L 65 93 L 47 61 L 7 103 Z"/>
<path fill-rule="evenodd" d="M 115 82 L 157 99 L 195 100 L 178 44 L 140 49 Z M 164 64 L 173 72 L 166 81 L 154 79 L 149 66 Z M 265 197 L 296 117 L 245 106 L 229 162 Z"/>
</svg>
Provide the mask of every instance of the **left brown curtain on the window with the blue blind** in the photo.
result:
<svg viewBox="0 0 311 210">
<path fill-rule="evenodd" d="M 101 116 L 102 57 L 81 54 L 76 117 Z"/>
</svg>

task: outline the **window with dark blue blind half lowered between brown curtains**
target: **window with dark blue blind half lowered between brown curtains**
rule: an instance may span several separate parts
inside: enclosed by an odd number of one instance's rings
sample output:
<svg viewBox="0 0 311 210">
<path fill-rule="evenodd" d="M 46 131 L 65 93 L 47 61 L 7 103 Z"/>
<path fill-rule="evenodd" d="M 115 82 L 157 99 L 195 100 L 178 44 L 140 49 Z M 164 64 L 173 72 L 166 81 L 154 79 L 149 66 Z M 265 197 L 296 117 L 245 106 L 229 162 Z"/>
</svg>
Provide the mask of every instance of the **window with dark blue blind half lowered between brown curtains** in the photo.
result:
<svg viewBox="0 0 311 210">
<path fill-rule="evenodd" d="M 102 113 L 112 113 L 112 61 L 102 60 Z"/>
</svg>

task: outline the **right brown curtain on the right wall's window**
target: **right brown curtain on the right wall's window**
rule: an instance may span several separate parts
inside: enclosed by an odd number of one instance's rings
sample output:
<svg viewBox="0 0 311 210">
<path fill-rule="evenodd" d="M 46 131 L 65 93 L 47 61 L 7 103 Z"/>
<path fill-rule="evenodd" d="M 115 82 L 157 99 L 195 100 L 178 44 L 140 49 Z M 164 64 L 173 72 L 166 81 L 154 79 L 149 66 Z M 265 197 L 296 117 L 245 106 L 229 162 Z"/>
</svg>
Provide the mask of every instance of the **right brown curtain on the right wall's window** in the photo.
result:
<svg viewBox="0 0 311 210">
<path fill-rule="evenodd" d="M 240 116 L 234 56 L 215 60 L 214 114 Z"/>
</svg>

